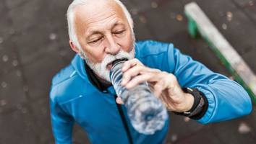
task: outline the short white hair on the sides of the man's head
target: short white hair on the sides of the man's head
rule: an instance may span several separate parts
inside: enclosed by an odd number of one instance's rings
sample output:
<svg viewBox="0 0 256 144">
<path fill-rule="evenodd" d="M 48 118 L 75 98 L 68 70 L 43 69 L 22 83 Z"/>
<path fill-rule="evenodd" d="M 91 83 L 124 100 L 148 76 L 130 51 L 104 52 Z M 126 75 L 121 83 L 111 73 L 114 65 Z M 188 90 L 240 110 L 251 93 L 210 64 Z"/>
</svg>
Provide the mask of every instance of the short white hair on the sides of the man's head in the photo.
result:
<svg viewBox="0 0 256 144">
<path fill-rule="evenodd" d="M 67 9 L 67 24 L 68 24 L 68 29 L 69 29 L 69 40 L 71 40 L 80 51 L 82 51 L 82 48 L 81 48 L 80 43 L 78 42 L 77 35 L 76 35 L 75 29 L 74 29 L 74 9 L 76 8 L 76 6 L 85 5 L 86 2 L 88 2 L 88 1 L 90 1 L 90 0 L 74 0 L 69 5 L 69 8 Z M 116 1 L 116 4 L 119 4 L 119 6 L 121 6 L 121 9 L 123 10 L 125 16 L 127 17 L 129 27 L 131 28 L 132 35 L 134 37 L 133 21 L 132 21 L 131 14 L 129 14 L 126 6 L 124 6 L 124 4 L 121 3 L 121 1 L 119 1 L 119 0 L 114 0 L 114 1 Z"/>
</svg>

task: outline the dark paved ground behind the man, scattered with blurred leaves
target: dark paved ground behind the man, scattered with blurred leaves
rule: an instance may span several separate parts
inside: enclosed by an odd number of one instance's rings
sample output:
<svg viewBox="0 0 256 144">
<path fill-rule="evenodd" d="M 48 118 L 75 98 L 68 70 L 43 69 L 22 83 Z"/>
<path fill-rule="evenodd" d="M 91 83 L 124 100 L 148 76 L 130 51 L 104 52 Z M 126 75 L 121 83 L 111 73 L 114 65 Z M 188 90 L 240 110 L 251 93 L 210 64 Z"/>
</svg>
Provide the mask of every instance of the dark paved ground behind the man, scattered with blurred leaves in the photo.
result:
<svg viewBox="0 0 256 144">
<path fill-rule="evenodd" d="M 123 0 L 124 1 L 124 0 Z M 256 71 L 256 0 L 196 0 L 218 30 Z M 70 0 L 0 0 L 0 144 L 54 143 L 48 92 L 70 62 L 65 13 Z M 190 0 L 125 0 L 137 40 L 173 42 L 218 73 L 230 76 L 203 40 L 187 32 Z M 246 117 L 210 125 L 171 114 L 167 143 L 256 143 L 256 107 Z M 74 143 L 89 143 L 74 127 Z"/>
</svg>

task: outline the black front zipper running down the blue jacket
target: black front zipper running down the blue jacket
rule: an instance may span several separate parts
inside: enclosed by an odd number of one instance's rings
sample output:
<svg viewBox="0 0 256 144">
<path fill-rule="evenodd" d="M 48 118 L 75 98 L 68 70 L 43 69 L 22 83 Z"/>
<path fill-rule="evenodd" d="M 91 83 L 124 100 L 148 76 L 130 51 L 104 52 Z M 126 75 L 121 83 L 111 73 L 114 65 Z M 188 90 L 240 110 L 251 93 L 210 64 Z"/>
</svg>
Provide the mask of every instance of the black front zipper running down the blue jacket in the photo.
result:
<svg viewBox="0 0 256 144">
<path fill-rule="evenodd" d="M 115 102 L 116 102 L 116 95 L 114 95 L 114 98 L 115 98 Z M 120 116 L 121 116 L 121 122 L 123 123 L 123 125 L 124 125 L 124 129 L 125 129 L 125 131 L 127 132 L 127 137 L 128 137 L 128 140 L 129 140 L 129 143 L 130 144 L 133 144 L 133 142 L 132 142 L 132 135 L 131 135 L 131 132 L 129 131 L 129 127 L 128 127 L 128 124 L 127 124 L 127 120 L 125 119 L 125 117 L 124 117 L 124 112 L 123 112 L 123 110 L 121 109 L 121 104 L 117 104 L 116 103 L 116 107 L 117 107 L 117 109 L 118 109 L 118 111 L 119 111 L 119 114 L 120 114 Z"/>
</svg>

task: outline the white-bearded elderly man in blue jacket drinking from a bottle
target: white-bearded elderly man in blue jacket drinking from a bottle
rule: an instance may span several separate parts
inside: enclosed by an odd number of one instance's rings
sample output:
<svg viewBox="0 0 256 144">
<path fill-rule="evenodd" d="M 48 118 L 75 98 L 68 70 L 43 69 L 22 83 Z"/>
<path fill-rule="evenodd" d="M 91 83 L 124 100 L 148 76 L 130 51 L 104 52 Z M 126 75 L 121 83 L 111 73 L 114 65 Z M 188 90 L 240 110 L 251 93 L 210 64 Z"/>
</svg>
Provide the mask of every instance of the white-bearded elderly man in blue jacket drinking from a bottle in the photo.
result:
<svg viewBox="0 0 256 144">
<path fill-rule="evenodd" d="M 56 143 L 72 143 L 74 122 L 91 143 L 163 143 L 168 120 L 153 135 L 137 132 L 127 109 L 116 99 L 109 71 L 116 59 L 127 58 L 122 85 L 148 81 L 155 96 L 176 114 L 202 124 L 249 114 L 246 91 L 226 76 L 213 73 L 179 52 L 174 45 L 135 43 L 132 18 L 119 0 L 74 0 L 67 11 L 69 44 L 77 53 L 54 76 L 51 121 Z"/>
</svg>

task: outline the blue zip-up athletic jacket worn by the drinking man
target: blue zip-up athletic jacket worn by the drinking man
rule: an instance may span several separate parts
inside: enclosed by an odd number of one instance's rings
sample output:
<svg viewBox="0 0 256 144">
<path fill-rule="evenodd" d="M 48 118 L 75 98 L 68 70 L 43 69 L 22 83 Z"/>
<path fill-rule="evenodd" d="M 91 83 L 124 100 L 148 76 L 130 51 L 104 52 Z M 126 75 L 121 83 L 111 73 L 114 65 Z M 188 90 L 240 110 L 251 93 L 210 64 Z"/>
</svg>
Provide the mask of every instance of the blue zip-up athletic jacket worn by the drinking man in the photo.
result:
<svg viewBox="0 0 256 144">
<path fill-rule="evenodd" d="M 198 122 L 220 122 L 251 112 L 251 99 L 242 86 L 183 55 L 174 45 L 147 40 L 137 42 L 135 52 L 135 58 L 145 66 L 173 73 L 182 87 L 197 88 L 205 94 L 208 109 Z M 84 60 L 75 55 L 72 63 L 57 73 L 52 81 L 51 124 L 56 144 L 72 143 L 74 122 L 87 132 L 91 143 L 129 143 L 127 130 L 133 143 L 163 143 L 168 120 L 163 130 L 154 135 L 142 135 L 132 127 L 127 109 L 122 105 L 128 125 L 126 129 L 116 107 L 115 95 L 113 86 L 104 92 L 96 89 L 88 80 Z"/>
</svg>

